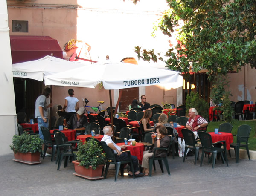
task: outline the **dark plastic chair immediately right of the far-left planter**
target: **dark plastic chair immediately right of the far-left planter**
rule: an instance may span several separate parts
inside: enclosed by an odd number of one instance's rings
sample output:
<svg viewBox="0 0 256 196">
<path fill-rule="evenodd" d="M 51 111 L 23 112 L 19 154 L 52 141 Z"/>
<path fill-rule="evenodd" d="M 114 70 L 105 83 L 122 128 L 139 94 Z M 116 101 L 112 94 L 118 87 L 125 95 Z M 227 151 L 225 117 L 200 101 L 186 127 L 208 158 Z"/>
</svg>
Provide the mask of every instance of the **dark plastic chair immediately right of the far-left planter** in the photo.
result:
<svg viewBox="0 0 256 196">
<path fill-rule="evenodd" d="M 51 147 L 52 148 L 52 159 L 51 161 L 53 161 L 53 157 L 54 157 L 54 154 L 55 154 L 55 150 L 56 150 L 56 147 L 57 147 L 57 144 L 55 142 L 55 139 L 52 138 L 52 134 L 50 133 L 50 130 L 46 127 L 41 127 L 41 131 L 44 135 L 44 154 L 43 154 L 43 159 L 45 157 L 45 153 L 46 153 L 46 150 L 48 147 Z"/>
</svg>

